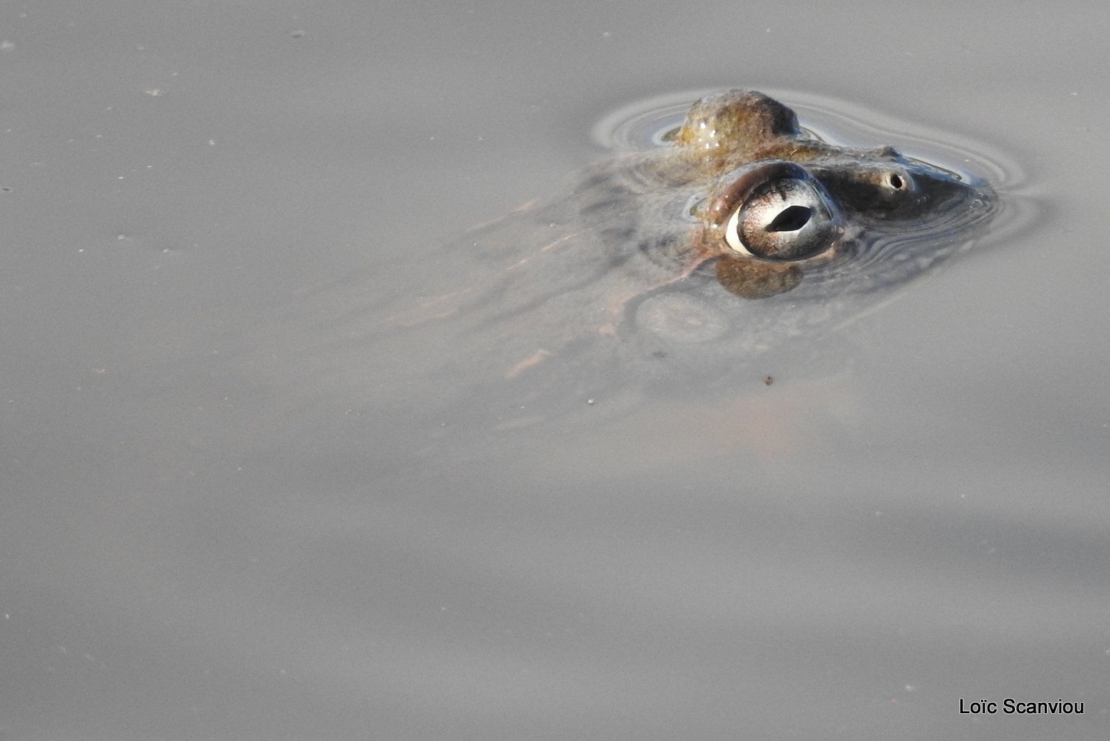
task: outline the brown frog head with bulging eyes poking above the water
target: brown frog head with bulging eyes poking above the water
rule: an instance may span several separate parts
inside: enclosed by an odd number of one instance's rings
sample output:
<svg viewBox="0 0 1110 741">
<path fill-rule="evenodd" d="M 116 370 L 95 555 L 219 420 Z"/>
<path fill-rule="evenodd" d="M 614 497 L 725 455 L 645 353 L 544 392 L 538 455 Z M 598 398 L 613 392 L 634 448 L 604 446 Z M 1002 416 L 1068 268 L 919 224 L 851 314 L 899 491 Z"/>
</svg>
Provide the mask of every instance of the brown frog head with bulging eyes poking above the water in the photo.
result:
<svg viewBox="0 0 1110 741">
<path fill-rule="evenodd" d="M 687 267 L 715 260 L 719 283 L 745 298 L 790 291 L 884 235 L 955 231 L 988 201 L 981 183 L 894 148 L 815 140 L 794 111 L 754 91 L 696 102 L 667 156 L 707 185 Z"/>
</svg>

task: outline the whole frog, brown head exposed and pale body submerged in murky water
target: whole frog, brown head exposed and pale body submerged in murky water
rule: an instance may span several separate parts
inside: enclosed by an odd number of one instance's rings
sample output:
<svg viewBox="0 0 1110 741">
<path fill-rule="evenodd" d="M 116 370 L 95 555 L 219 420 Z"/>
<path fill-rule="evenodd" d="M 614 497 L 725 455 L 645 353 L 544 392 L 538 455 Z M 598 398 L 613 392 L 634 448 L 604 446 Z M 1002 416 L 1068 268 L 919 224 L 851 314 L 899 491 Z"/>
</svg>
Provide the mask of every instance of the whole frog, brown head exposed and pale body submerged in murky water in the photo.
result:
<svg viewBox="0 0 1110 741">
<path fill-rule="evenodd" d="M 670 145 L 422 254 L 407 293 L 327 311 L 300 356 L 355 406 L 478 387 L 506 406 L 581 404 L 718 376 L 866 312 L 965 246 L 993 203 L 982 183 L 818 141 L 781 103 L 730 90 L 697 101 Z"/>
</svg>

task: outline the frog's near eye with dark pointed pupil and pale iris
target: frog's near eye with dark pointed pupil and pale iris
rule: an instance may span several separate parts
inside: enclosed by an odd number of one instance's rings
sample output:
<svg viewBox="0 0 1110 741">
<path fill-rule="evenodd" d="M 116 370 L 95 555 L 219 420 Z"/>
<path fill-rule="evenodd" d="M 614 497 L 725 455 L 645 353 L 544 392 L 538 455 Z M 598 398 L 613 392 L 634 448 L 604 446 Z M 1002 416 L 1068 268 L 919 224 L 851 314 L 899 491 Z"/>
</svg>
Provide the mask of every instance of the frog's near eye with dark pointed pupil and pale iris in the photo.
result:
<svg viewBox="0 0 1110 741">
<path fill-rule="evenodd" d="M 813 257 L 840 236 L 840 217 L 824 189 L 808 177 L 781 177 L 754 189 L 725 225 L 725 241 L 741 255 L 775 261 Z"/>
</svg>

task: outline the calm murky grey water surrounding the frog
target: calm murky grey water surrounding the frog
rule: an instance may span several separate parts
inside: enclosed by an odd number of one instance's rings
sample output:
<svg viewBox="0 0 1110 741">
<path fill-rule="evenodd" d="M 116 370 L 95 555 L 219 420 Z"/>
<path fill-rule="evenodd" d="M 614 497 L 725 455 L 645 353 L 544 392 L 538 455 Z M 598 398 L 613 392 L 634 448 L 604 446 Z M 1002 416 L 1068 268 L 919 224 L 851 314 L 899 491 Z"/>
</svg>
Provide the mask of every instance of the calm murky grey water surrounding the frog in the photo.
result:
<svg viewBox="0 0 1110 741">
<path fill-rule="evenodd" d="M 1108 20 L 6 3 L 0 737 L 1107 738 Z M 428 430 L 313 365 L 607 113 L 737 85 L 983 142 L 1008 210 L 728 393 Z"/>
</svg>

